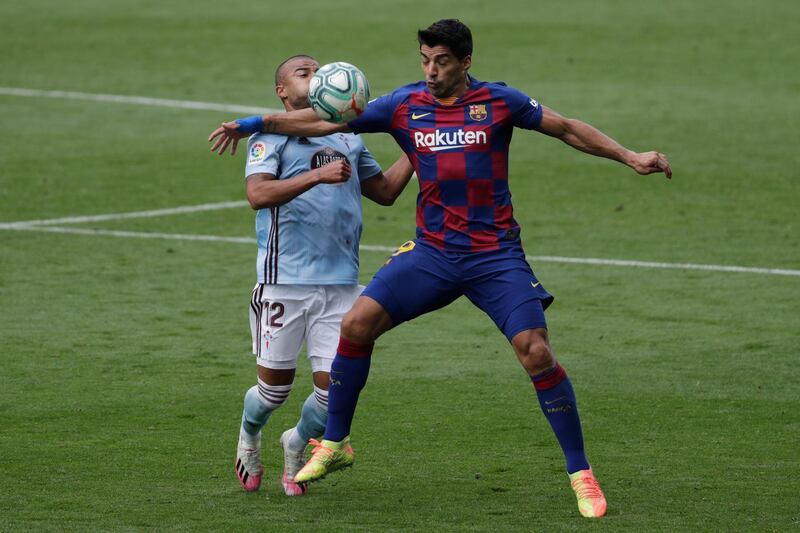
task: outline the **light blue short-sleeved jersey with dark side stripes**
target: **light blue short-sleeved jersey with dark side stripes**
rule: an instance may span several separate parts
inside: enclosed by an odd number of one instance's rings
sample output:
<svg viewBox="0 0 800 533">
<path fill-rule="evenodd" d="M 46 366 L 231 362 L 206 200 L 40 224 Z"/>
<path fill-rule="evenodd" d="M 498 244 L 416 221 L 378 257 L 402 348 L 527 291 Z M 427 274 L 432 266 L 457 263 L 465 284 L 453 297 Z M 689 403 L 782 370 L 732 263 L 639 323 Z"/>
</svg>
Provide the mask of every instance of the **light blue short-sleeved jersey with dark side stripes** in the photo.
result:
<svg viewBox="0 0 800 533">
<path fill-rule="evenodd" d="M 278 207 L 256 214 L 258 282 L 291 285 L 358 283 L 361 180 L 381 167 L 352 133 L 286 137 L 257 133 L 247 143 L 245 176 L 268 173 L 290 179 L 347 158 L 345 183 L 322 183 Z"/>
</svg>

